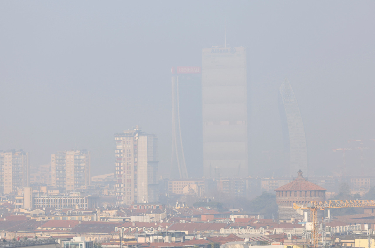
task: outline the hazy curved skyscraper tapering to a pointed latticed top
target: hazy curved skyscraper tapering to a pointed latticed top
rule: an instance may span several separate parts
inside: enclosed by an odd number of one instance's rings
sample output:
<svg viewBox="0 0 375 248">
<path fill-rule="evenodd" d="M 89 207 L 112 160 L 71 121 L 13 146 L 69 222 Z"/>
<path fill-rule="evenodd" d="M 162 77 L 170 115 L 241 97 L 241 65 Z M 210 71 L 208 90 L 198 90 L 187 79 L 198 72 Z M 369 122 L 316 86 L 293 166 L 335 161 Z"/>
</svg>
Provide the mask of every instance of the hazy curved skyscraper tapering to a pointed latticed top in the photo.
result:
<svg viewBox="0 0 375 248">
<path fill-rule="evenodd" d="M 284 79 L 279 90 L 282 105 L 285 109 L 284 119 L 286 121 L 285 127 L 287 127 L 285 129 L 287 130 L 284 130 L 284 134 L 287 134 L 285 137 L 289 137 L 289 140 L 285 142 L 285 145 L 289 148 L 288 152 L 290 153 L 289 175 L 294 175 L 294 173 L 299 170 L 308 172 L 305 128 L 303 127 L 296 96 L 294 96 L 293 89 L 287 78 Z M 288 141 L 289 144 L 287 144 Z"/>
</svg>

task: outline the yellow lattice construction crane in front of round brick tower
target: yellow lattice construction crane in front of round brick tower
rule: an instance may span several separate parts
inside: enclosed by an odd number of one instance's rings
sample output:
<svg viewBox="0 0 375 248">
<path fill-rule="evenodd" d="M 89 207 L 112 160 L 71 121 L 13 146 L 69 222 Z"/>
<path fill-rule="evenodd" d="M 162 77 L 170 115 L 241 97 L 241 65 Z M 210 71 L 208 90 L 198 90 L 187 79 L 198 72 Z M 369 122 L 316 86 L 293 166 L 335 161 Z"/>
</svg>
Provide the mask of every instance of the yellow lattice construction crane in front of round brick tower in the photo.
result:
<svg viewBox="0 0 375 248">
<path fill-rule="evenodd" d="M 312 247 L 318 247 L 318 213 L 326 208 L 354 208 L 375 206 L 375 200 L 311 201 L 307 206 L 293 203 L 294 209 L 310 209 Z"/>
</svg>

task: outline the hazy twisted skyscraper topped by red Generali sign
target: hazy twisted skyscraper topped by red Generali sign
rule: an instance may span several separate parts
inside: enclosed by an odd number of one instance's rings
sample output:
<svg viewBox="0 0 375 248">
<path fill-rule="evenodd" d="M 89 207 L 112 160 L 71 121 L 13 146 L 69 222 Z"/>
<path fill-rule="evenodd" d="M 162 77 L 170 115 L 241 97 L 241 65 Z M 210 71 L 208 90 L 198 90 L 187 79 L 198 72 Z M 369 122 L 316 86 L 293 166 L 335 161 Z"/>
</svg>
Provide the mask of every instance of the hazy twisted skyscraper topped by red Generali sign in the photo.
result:
<svg viewBox="0 0 375 248">
<path fill-rule="evenodd" d="M 201 67 L 172 67 L 171 177 L 201 176 L 202 163 Z"/>
</svg>

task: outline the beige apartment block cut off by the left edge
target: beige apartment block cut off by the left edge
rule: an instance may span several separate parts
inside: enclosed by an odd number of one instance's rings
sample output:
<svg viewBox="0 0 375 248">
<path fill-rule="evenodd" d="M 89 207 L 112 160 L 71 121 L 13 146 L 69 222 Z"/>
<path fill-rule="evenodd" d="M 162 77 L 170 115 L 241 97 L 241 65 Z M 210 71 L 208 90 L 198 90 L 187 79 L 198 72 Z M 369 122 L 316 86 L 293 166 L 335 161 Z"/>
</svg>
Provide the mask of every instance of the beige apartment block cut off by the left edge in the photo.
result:
<svg viewBox="0 0 375 248">
<path fill-rule="evenodd" d="M 22 150 L 0 152 L 0 194 L 17 193 L 28 186 L 28 153 Z"/>
</svg>

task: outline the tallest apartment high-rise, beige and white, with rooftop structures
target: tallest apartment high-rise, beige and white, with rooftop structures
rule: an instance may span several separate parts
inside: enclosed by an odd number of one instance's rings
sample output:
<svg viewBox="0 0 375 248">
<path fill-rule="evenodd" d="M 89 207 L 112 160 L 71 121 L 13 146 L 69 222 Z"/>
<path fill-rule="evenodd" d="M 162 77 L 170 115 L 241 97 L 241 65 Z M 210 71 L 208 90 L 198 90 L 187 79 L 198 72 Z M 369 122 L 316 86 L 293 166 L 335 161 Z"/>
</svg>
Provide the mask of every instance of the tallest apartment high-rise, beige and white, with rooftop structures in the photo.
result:
<svg viewBox="0 0 375 248">
<path fill-rule="evenodd" d="M 157 136 L 134 130 L 115 134 L 117 204 L 157 202 Z"/>
</svg>

